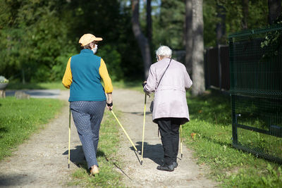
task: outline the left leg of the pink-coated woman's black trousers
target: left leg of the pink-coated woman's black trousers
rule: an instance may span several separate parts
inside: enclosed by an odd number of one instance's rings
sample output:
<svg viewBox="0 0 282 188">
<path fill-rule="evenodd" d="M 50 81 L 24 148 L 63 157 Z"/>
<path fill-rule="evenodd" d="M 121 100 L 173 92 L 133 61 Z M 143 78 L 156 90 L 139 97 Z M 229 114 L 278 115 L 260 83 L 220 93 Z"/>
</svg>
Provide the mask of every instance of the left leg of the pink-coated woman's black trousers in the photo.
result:
<svg viewBox="0 0 282 188">
<path fill-rule="evenodd" d="M 164 165 L 173 163 L 173 143 L 171 134 L 171 120 L 168 118 L 160 118 L 157 120 L 159 132 L 161 133 L 161 143 L 164 148 Z"/>
</svg>

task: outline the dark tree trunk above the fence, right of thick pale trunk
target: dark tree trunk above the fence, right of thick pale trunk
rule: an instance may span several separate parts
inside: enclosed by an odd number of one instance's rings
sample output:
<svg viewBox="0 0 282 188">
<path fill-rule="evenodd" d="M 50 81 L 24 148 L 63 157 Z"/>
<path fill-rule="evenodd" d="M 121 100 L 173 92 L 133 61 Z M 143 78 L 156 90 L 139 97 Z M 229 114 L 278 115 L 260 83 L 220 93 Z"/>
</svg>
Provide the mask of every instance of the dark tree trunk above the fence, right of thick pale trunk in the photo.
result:
<svg viewBox="0 0 282 188">
<path fill-rule="evenodd" d="M 219 18 L 219 23 L 216 24 L 216 44 L 223 44 L 224 35 L 226 32 L 225 20 L 226 20 L 226 9 L 224 6 L 216 4 L 216 17 Z"/>
</svg>

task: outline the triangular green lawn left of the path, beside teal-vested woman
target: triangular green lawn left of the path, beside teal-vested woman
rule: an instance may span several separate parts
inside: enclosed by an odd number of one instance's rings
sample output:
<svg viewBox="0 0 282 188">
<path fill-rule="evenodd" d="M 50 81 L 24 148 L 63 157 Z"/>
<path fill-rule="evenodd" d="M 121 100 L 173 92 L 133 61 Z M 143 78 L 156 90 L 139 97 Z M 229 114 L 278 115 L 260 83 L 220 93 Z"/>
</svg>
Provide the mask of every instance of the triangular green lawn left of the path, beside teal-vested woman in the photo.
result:
<svg viewBox="0 0 282 188">
<path fill-rule="evenodd" d="M 63 101 L 56 99 L 0 99 L 0 160 L 54 118 Z"/>
</svg>

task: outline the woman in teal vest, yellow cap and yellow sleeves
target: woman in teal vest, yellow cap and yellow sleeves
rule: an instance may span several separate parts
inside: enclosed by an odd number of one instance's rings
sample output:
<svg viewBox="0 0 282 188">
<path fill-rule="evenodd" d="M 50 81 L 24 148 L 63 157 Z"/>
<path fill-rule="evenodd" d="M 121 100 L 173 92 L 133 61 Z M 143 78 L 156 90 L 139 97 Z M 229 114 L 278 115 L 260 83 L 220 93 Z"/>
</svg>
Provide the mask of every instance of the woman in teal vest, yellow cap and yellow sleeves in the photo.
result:
<svg viewBox="0 0 282 188">
<path fill-rule="evenodd" d="M 62 81 L 63 85 L 70 89 L 68 101 L 73 121 L 92 175 L 99 173 L 96 154 L 104 109 L 105 106 L 108 110 L 113 108 L 113 86 L 106 64 L 101 57 L 94 55 L 99 41 L 102 41 L 102 38 L 92 34 L 85 34 L 80 38 L 82 50 L 80 54 L 68 59 Z"/>
</svg>

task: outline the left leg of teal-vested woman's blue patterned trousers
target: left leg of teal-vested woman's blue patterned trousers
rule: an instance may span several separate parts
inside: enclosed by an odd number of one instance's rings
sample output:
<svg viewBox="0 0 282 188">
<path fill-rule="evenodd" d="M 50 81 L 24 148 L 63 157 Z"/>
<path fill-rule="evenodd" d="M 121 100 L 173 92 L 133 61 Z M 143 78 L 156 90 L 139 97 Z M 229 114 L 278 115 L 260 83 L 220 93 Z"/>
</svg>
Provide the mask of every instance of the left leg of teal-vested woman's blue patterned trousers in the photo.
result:
<svg viewBox="0 0 282 188">
<path fill-rule="evenodd" d="M 89 101 L 73 101 L 71 102 L 71 112 L 73 121 L 78 130 L 78 135 L 85 154 L 87 166 L 98 165 L 96 152 L 94 150 L 93 132 L 90 122 Z"/>
</svg>

